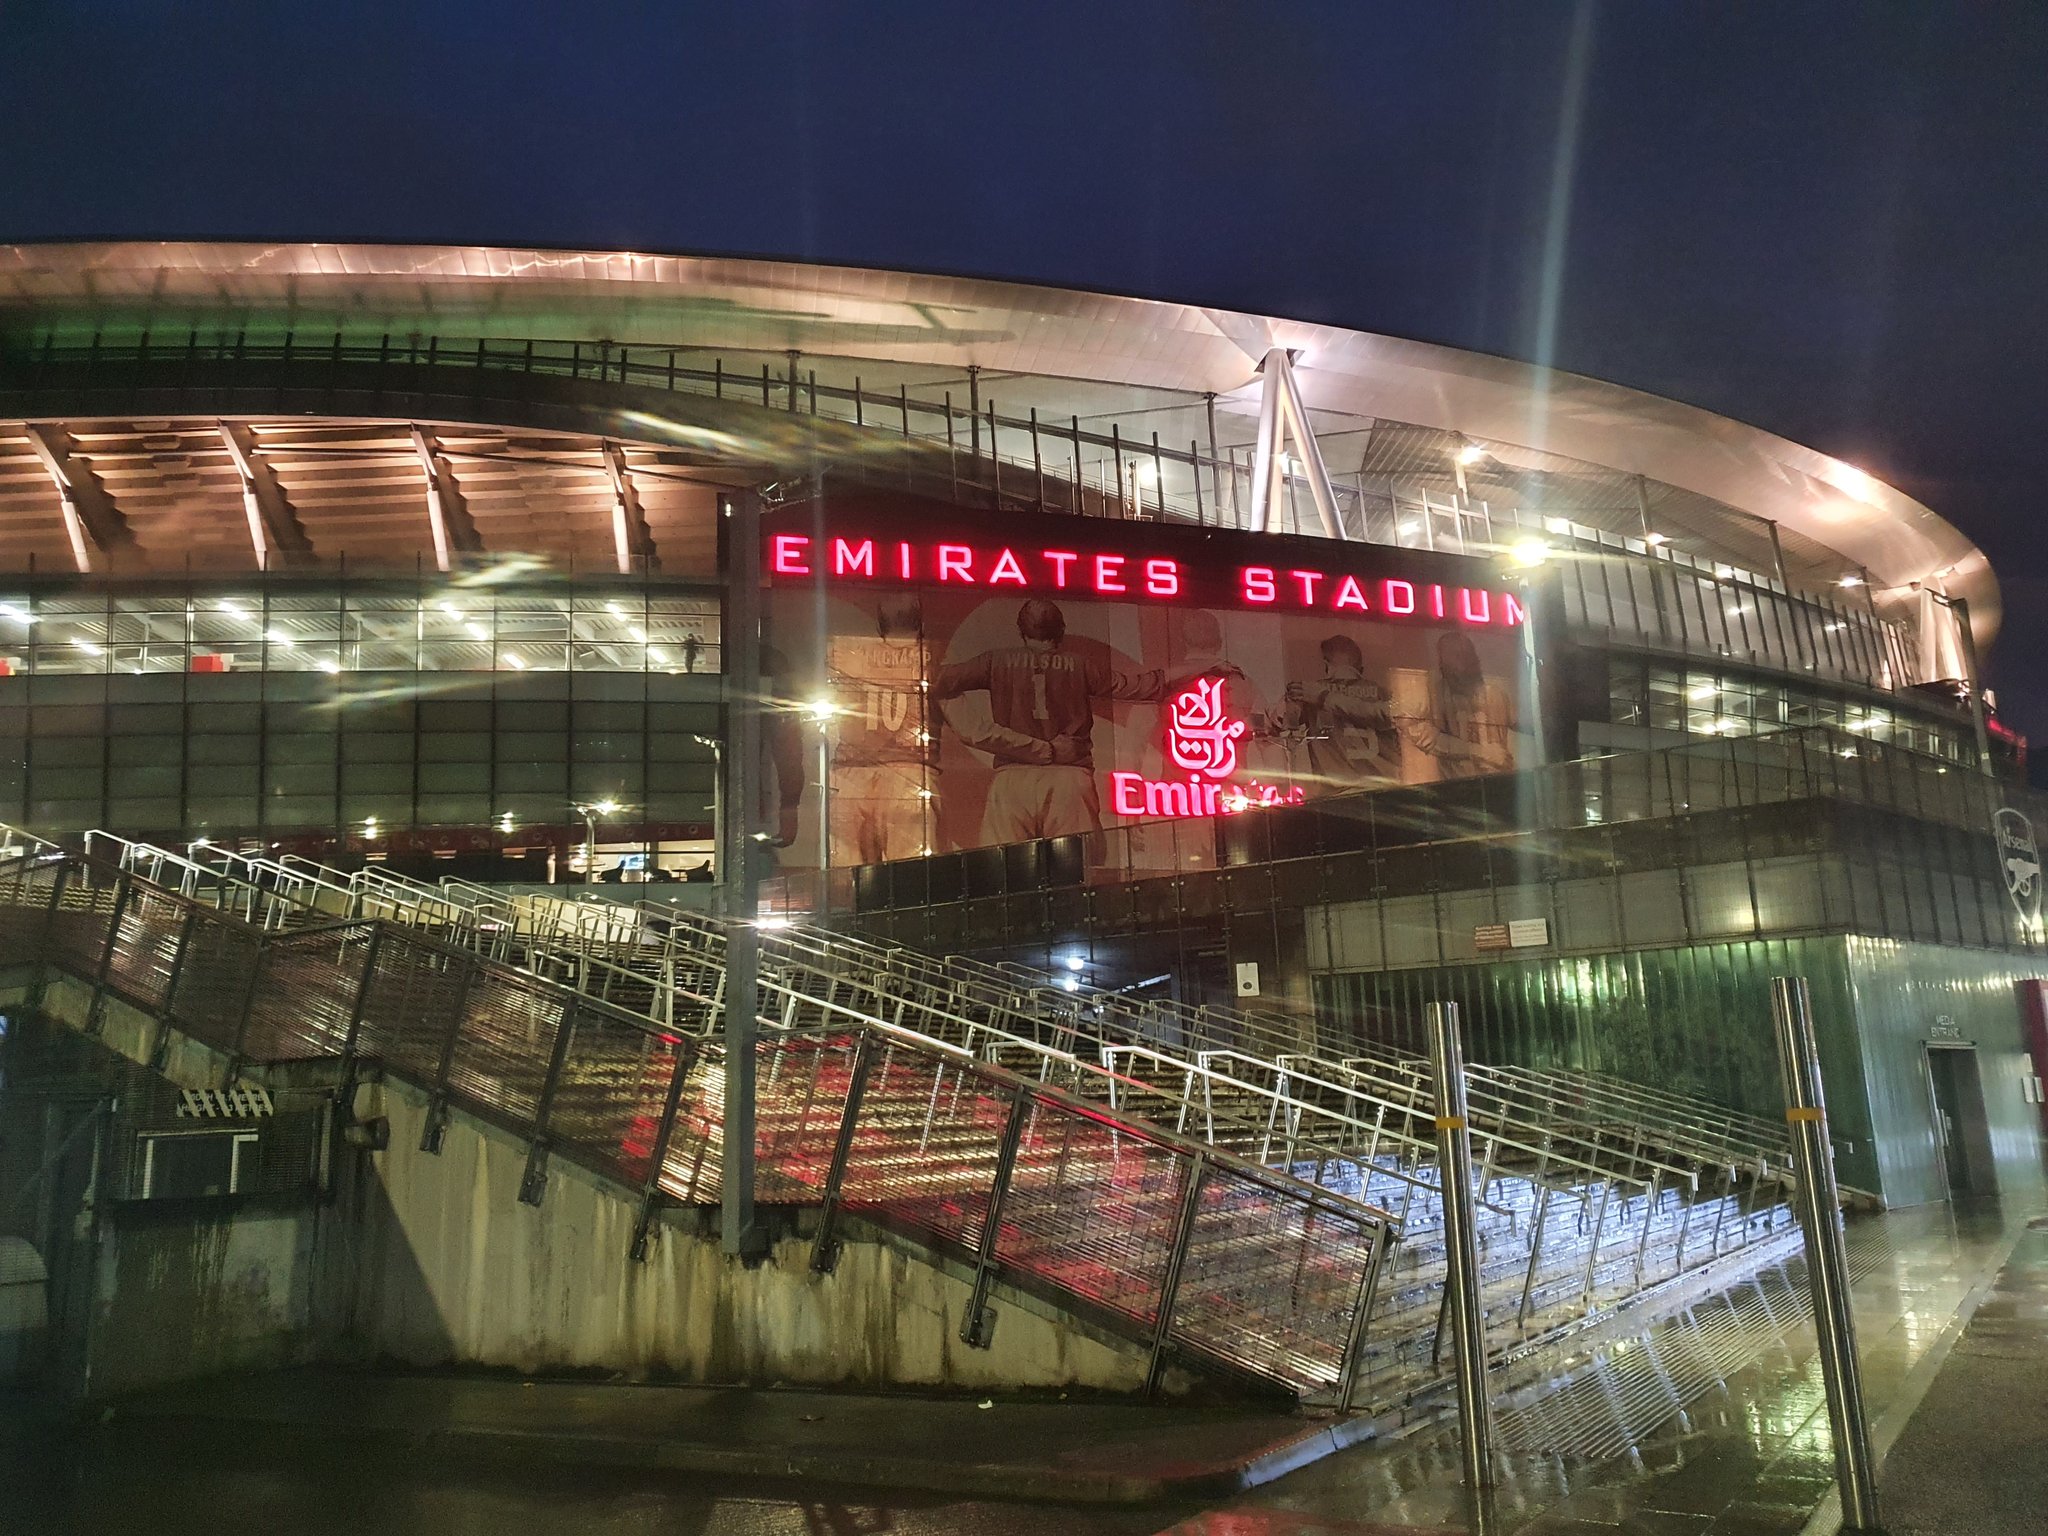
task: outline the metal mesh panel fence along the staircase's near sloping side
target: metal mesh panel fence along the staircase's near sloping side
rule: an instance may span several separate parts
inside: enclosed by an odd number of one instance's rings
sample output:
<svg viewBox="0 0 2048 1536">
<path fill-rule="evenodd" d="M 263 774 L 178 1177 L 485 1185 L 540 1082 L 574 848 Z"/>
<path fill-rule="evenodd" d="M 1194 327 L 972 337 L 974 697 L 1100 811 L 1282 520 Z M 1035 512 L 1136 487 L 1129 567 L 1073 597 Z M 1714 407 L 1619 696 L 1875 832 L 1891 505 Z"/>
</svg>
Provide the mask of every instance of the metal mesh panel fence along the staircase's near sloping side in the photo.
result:
<svg viewBox="0 0 2048 1536">
<path fill-rule="evenodd" d="M 645 1014 L 391 920 L 262 928 L 131 870 L 27 846 L 0 864 L 0 963 L 35 963 L 227 1057 L 334 1059 L 344 1102 L 373 1065 L 526 1141 L 520 1198 L 559 1155 L 639 1192 L 635 1251 L 666 1202 L 717 1198 L 723 1057 L 705 1018 Z M 999 1280 L 1100 1319 L 1167 1360 L 1348 1397 L 1382 1210 L 1118 1116 L 944 1042 L 852 1012 L 764 1018 L 764 1200 L 821 1204 L 973 1266 L 969 1333 Z"/>
</svg>

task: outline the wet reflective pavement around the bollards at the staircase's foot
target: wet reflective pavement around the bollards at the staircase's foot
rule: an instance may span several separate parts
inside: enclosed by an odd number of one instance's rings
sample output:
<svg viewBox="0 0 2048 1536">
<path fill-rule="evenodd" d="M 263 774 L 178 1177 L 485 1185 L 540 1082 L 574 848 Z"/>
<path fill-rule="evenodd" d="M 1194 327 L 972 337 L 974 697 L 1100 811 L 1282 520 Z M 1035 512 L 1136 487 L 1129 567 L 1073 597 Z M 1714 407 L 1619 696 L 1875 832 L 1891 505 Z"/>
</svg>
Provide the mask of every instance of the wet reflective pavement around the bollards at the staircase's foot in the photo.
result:
<svg viewBox="0 0 2048 1536">
<path fill-rule="evenodd" d="M 1917 1399 L 1933 1364 L 1929 1352 L 1952 1341 L 1958 1309 L 1991 1282 L 2017 1231 L 2019 1219 L 2001 1210 L 1956 1214 L 1948 1206 L 1855 1223 L 1851 1305 L 1874 1419 Z M 1645 1401 L 1640 1391 L 1616 1384 L 1616 1360 L 1628 1354 L 1622 1348 L 1559 1389 L 1559 1395 L 1585 1397 L 1585 1407 L 1567 1415 L 1552 1436 L 1542 1432 L 1542 1415 L 1524 1415 L 1536 1425 L 1530 1430 L 1516 1413 L 1503 1413 L 1505 1450 L 1489 1530 L 1503 1536 L 1792 1536 L 1804 1530 L 1833 1487 L 1833 1442 L 1812 1327 L 1796 1305 L 1796 1266 L 1776 1280 L 1765 1292 L 1776 1296 L 1774 1307 L 1722 1319 L 1722 1348 L 1739 1356 L 1733 1370 L 1702 1382 L 1698 1370 L 1688 1380 L 1686 1372 L 1667 1368 L 1663 1401 Z M 1741 1296 L 1720 1307 L 1739 1303 Z M 1712 1305 L 1696 1307 L 1663 1323 L 1647 1335 L 1649 1348 L 1679 1354 L 1669 1346 L 1688 1329 L 1714 1331 L 1702 1319 L 1712 1311 Z M 1587 1391 L 1581 1382 L 1595 1386 Z M 1612 1440 L 1614 1427 L 1626 1432 L 1622 1440 L 1634 1438 L 1634 1448 L 1618 1456 L 1589 1454 L 1587 1442 Z M 1546 1438 L 1552 1444 L 1546 1446 Z M 1339 1452 L 1198 1516 L 1184 1536 L 1470 1530 L 1473 1524 L 1456 1430 L 1444 1425 L 1403 1444 Z M 2028 1530 L 2042 1528 L 2036 1520 Z"/>
</svg>

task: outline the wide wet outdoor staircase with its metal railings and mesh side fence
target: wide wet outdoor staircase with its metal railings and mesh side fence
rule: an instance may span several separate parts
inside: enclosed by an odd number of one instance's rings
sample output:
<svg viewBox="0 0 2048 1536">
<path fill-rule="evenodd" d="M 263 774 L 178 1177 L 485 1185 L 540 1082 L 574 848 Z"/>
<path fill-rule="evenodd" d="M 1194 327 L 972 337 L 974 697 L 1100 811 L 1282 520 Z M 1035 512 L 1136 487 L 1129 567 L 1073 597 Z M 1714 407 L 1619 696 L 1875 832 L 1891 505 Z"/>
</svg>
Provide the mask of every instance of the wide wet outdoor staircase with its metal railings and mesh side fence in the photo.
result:
<svg viewBox="0 0 2048 1536">
<path fill-rule="evenodd" d="M 725 926 L 94 834 L 0 846 L 35 958 L 256 1065 L 332 1057 L 662 1204 L 719 1194 Z M 8 852 L 12 850 L 12 858 Z M 762 926 L 758 1182 L 1171 1360 L 1354 1405 L 1442 1376 L 1427 1063 L 1300 1020 L 1137 1004 L 1014 965 Z M 1473 1067 L 1497 1350 L 1796 1241 L 1782 1130 L 1591 1073 Z M 981 1335 L 981 1337 L 977 1337 Z"/>
</svg>

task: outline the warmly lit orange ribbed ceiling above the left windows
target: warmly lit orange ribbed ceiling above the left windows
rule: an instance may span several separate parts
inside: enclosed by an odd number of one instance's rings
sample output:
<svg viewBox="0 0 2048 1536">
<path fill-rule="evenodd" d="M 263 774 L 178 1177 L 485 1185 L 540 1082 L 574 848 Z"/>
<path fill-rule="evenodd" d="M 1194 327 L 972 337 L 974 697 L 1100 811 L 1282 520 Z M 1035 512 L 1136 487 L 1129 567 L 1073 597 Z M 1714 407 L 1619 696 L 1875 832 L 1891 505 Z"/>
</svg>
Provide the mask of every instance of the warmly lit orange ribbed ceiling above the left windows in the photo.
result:
<svg viewBox="0 0 2048 1536">
<path fill-rule="evenodd" d="M 717 571 L 719 481 L 682 455 L 567 432 L 434 426 L 442 514 L 459 553 L 618 569 L 618 467 L 631 494 L 633 569 Z M 264 518 L 268 567 L 434 569 L 428 471 L 410 422 L 158 420 L 0 422 L 0 567 L 74 571 L 59 455 L 94 571 L 254 571 L 264 559 L 246 483 Z M 252 473 L 246 481 L 242 463 Z M 641 561 L 645 555 L 645 561 Z"/>
</svg>

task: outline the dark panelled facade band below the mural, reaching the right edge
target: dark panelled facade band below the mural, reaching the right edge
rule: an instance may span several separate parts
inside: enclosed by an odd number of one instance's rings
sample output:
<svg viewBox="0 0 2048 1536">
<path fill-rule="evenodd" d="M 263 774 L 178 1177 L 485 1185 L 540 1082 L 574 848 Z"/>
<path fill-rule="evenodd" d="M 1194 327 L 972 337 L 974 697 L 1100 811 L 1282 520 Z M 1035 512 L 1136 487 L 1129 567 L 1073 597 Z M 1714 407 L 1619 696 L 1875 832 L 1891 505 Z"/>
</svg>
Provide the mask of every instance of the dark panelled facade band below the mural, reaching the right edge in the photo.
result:
<svg viewBox="0 0 2048 1536">
<path fill-rule="evenodd" d="M 1477 928 L 1513 918 L 1587 952 L 1788 932 L 2038 950 L 1999 868 L 2001 805 L 2048 821 L 1937 758 L 1788 729 L 903 860 L 850 897 L 872 932 L 942 948 L 1212 938 L 1288 913 L 1303 963 L 1339 971 L 1468 958 Z M 1157 848 L 1141 864 L 1143 838 L 1169 840 L 1178 872 Z"/>
</svg>

